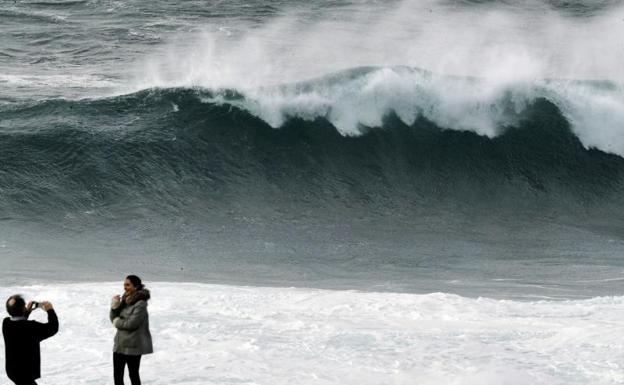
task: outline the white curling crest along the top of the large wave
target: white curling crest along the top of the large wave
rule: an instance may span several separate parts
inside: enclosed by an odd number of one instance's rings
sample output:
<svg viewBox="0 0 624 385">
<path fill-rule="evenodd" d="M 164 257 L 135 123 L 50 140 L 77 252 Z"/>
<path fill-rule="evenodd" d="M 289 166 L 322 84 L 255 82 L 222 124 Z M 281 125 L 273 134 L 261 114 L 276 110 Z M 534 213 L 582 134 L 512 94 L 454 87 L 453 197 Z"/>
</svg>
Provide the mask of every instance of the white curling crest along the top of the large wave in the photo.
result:
<svg viewBox="0 0 624 385">
<path fill-rule="evenodd" d="M 362 126 L 380 127 L 393 112 L 407 125 L 424 117 L 446 129 L 491 138 L 517 127 L 539 99 L 561 110 L 586 147 L 624 156 L 624 90 L 610 82 L 503 84 L 407 67 L 363 67 L 302 83 L 217 91 L 204 100 L 245 109 L 273 127 L 290 118 L 325 118 L 342 134 L 359 135 Z"/>
</svg>

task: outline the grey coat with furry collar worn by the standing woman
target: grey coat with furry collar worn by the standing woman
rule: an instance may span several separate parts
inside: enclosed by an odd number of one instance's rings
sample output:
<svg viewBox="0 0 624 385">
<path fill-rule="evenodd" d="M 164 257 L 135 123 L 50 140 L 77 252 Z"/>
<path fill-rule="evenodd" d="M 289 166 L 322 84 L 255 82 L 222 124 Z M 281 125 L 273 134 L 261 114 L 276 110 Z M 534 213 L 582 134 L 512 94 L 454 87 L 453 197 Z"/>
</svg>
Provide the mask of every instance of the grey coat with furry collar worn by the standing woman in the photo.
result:
<svg viewBox="0 0 624 385">
<path fill-rule="evenodd" d="M 113 352 L 132 356 L 154 352 L 147 314 L 149 297 L 147 289 L 139 290 L 132 297 L 124 296 L 121 306 L 111 309 L 110 319 L 117 328 Z"/>
</svg>

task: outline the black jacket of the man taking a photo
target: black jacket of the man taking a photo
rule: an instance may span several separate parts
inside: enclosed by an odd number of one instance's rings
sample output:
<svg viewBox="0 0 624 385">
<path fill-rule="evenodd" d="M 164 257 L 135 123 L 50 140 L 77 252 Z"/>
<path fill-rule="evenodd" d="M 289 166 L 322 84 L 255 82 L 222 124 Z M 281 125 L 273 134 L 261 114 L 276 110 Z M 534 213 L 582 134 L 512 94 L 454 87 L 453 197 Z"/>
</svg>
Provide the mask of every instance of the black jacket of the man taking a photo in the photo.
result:
<svg viewBox="0 0 624 385">
<path fill-rule="evenodd" d="M 16 382 L 36 380 L 41 377 L 41 354 L 39 342 L 52 337 L 58 331 L 58 318 L 54 310 L 48 310 L 48 323 L 11 320 L 2 323 L 6 351 L 6 371 Z"/>
</svg>

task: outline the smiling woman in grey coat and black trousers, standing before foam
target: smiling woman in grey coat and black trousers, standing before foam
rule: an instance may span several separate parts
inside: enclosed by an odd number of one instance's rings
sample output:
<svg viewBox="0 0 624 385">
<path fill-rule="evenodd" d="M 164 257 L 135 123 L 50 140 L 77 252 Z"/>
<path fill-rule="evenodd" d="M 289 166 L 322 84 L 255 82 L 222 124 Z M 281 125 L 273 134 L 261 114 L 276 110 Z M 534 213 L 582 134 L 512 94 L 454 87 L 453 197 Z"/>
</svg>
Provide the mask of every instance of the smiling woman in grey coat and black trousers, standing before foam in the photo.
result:
<svg viewBox="0 0 624 385">
<path fill-rule="evenodd" d="M 118 295 L 113 297 L 110 319 L 117 328 L 113 346 L 115 385 L 124 385 L 126 365 L 132 385 L 141 385 L 139 377 L 141 356 L 154 352 L 147 314 L 149 299 L 149 290 L 136 275 L 126 277 L 123 297 Z"/>
</svg>

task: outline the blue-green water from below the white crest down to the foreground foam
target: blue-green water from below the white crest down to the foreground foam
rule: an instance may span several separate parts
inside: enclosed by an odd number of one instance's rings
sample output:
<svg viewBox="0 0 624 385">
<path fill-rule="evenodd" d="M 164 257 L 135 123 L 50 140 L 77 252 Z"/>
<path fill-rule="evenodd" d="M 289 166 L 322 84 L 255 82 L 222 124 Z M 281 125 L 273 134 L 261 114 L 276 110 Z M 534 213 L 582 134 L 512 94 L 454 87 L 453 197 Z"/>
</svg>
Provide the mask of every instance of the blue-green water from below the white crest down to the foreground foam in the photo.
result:
<svg viewBox="0 0 624 385">
<path fill-rule="evenodd" d="M 546 99 L 493 138 L 392 112 L 357 136 L 321 117 L 275 129 L 246 103 L 235 91 L 154 89 L 4 107 L 3 252 L 104 272 L 113 253 L 147 254 L 166 277 L 391 290 L 430 290 L 435 272 L 491 295 L 500 285 L 476 282 L 525 282 L 508 270 L 523 258 L 577 259 L 557 287 L 618 263 L 624 159 L 585 148 Z M 24 234 L 35 237 L 26 248 Z M 572 240 L 588 249 L 560 249 Z M 590 274 L 597 292 L 617 284 L 605 273 Z M 561 295 L 545 287 L 535 293 Z"/>
</svg>

